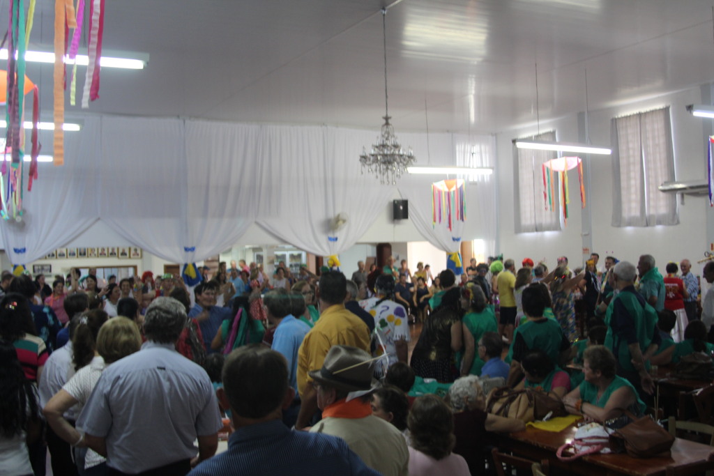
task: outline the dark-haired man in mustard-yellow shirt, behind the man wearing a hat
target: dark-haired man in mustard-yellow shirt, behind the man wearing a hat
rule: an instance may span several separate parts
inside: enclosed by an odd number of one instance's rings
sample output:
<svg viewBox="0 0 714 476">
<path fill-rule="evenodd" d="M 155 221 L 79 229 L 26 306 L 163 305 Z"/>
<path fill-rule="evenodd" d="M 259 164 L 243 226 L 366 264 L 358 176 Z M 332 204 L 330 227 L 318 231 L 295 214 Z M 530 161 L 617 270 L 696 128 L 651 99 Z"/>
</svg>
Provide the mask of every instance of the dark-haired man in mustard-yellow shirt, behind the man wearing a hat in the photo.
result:
<svg viewBox="0 0 714 476">
<path fill-rule="evenodd" d="M 303 339 L 298 350 L 298 392 L 300 413 L 297 430 L 308 426 L 317 411 L 317 393 L 308 372 L 320 370 L 333 345 L 351 345 L 370 351 L 369 329 L 363 320 L 346 310 L 347 279 L 339 271 L 327 271 L 320 276 L 317 298 L 320 319 Z"/>
</svg>

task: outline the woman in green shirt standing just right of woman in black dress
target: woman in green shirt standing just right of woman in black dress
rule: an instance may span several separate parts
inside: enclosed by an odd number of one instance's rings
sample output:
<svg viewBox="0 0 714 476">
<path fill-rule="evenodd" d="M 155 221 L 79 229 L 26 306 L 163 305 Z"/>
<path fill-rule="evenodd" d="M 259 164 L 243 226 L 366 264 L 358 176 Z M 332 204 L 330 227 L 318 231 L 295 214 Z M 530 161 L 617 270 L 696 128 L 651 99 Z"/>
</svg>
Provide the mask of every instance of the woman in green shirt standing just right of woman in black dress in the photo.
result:
<svg viewBox="0 0 714 476">
<path fill-rule="evenodd" d="M 476 343 L 483 333 L 497 332 L 496 314 L 488 305 L 486 295 L 481 286 L 468 283 L 462 294 L 463 308 L 468 308 L 468 313 L 461 320 L 463 330 L 464 353 L 461 360 L 461 376 L 481 375 L 483 360 L 476 354 Z"/>
</svg>

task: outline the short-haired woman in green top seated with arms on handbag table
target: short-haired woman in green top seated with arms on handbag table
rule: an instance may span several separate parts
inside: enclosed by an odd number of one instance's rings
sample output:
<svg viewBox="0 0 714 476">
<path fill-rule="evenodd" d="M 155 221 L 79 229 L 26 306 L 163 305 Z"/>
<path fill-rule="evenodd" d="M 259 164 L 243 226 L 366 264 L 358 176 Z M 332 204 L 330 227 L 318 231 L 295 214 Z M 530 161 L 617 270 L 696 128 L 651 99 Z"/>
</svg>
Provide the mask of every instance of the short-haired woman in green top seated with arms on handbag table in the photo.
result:
<svg viewBox="0 0 714 476">
<path fill-rule="evenodd" d="M 637 390 L 624 378 L 615 375 L 615 356 L 604 345 L 593 345 L 583 354 L 585 380 L 563 397 L 568 412 L 604 422 L 618 417 L 623 408 L 642 415 L 645 404 Z"/>
</svg>

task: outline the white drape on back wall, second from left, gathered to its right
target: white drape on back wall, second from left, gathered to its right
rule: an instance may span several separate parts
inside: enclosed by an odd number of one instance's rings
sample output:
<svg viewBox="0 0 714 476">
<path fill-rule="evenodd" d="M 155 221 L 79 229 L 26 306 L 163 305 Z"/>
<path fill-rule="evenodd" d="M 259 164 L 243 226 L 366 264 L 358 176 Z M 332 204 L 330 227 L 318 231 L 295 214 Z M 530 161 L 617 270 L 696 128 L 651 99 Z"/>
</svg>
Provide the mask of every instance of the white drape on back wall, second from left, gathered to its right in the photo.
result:
<svg viewBox="0 0 714 476">
<path fill-rule="evenodd" d="M 171 263 L 190 263 L 183 121 L 101 119 L 99 212 L 116 233 Z M 206 192 L 207 193 L 207 192 Z M 187 258 L 188 256 L 188 258 Z"/>
</svg>

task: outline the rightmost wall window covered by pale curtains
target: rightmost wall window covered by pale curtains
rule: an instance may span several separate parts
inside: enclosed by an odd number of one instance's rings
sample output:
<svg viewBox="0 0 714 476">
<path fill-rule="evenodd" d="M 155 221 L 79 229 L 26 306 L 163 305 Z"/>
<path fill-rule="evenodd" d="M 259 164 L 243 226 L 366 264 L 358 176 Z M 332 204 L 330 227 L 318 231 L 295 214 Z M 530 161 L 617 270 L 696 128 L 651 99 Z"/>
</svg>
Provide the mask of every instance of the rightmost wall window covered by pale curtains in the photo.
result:
<svg viewBox="0 0 714 476">
<path fill-rule="evenodd" d="M 669 106 L 613 119 L 613 226 L 676 225 L 675 194 L 658 187 L 675 180 Z"/>
</svg>

